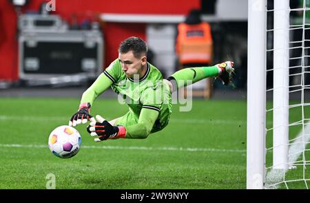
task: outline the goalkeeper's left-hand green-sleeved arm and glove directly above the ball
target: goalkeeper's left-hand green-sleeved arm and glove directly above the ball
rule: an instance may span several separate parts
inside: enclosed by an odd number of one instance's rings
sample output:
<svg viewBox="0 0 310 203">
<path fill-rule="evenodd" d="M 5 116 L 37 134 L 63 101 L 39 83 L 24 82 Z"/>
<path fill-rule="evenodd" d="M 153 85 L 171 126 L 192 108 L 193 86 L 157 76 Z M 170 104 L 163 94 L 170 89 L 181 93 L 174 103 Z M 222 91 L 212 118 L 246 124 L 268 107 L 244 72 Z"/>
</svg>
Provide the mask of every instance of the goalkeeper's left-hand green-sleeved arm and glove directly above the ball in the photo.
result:
<svg viewBox="0 0 310 203">
<path fill-rule="evenodd" d="M 78 111 L 73 114 L 69 121 L 70 126 L 76 126 L 81 123 L 86 123 L 87 120 L 93 120 L 90 115 L 90 107 L 94 100 L 105 90 L 112 85 L 112 81 L 110 78 L 105 76 L 105 74 L 101 74 L 96 81 L 83 93 L 81 98 L 81 103 Z"/>
</svg>

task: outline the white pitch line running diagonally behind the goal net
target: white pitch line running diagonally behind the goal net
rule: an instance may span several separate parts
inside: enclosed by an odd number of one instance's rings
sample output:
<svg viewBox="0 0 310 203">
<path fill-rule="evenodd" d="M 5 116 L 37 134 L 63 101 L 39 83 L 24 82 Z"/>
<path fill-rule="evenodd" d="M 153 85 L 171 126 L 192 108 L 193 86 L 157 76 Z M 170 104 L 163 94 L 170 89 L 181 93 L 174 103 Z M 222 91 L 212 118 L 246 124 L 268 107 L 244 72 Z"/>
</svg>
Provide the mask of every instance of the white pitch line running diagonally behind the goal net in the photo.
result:
<svg viewBox="0 0 310 203">
<path fill-rule="evenodd" d="M 298 160 L 304 149 L 306 149 L 307 143 L 310 141 L 310 136 L 304 136 L 310 134 L 310 122 L 308 122 L 304 126 L 304 131 L 301 130 L 300 133 L 298 133 L 298 136 L 296 137 L 294 142 L 291 143 L 289 146 L 288 169 L 293 167 L 293 164 Z M 277 189 L 277 183 L 282 182 L 283 174 L 285 174 L 286 172 L 287 169 L 271 169 L 271 171 L 269 171 L 269 173 L 267 173 L 266 175 L 267 187 L 271 187 L 271 189 Z"/>
</svg>

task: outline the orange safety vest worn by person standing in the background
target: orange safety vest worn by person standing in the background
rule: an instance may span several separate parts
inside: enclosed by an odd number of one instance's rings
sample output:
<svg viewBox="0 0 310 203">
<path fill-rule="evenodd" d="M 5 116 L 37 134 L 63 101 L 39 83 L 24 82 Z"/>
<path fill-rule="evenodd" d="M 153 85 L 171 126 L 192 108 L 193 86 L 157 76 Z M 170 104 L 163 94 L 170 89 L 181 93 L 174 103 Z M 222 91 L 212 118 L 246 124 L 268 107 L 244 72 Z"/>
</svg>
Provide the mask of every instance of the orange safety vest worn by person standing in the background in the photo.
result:
<svg viewBox="0 0 310 203">
<path fill-rule="evenodd" d="M 210 63 L 213 54 L 213 41 L 209 23 L 178 24 L 176 52 L 181 64 Z"/>
</svg>

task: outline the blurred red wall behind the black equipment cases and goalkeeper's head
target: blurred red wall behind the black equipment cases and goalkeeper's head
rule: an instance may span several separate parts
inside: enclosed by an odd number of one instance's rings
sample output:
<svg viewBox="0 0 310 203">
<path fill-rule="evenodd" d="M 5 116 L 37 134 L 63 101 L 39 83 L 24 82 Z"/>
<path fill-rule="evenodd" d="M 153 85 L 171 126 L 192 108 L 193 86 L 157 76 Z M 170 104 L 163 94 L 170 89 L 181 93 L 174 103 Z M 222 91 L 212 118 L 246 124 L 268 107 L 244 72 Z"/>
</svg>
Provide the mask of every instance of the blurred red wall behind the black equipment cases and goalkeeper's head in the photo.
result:
<svg viewBox="0 0 310 203">
<path fill-rule="evenodd" d="M 30 0 L 23 12 L 38 11 L 42 2 Z M 199 0 L 55 0 L 56 11 L 65 21 L 72 21 L 72 14 L 79 21 L 96 19 L 102 13 L 115 14 L 187 14 L 192 8 L 199 8 Z M 128 36 L 145 39 L 144 23 L 103 23 L 105 39 L 105 64 L 117 57 L 118 44 Z M 17 17 L 8 0 L 0 0 L 0 80 L 17 81 Z"/>
</svg>

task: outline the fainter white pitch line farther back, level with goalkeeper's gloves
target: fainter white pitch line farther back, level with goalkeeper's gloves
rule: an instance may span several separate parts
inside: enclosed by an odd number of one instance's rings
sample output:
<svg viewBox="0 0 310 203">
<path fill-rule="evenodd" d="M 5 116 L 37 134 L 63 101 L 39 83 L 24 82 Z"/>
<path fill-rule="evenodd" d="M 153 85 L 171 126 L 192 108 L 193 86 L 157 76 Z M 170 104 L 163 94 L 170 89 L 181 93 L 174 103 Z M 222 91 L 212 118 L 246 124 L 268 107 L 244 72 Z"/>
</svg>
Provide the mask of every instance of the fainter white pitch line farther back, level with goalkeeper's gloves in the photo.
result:
<svg viewBox="0 0 310 203">
<path fill-rule="evenodd" d="M 19 121 L 36 121 L 36 122 L 46 122 L 46 121 L 62 121 L 68 120 L 69 117 L 65 116 L 0 116 L 0 120 L 19 120 Z M 107 119 L 109 120 L 109 119 Z M 201 124 L 214 124 L 214 125 L 245 125 L 246 120 L 219 120 L 219 119 L 203 119 L 203 118 L 191 118 L 191 119 L 181 119 L 172 118 L 169 122 L 171 123 L 201 123 Z"/>
</svg>

